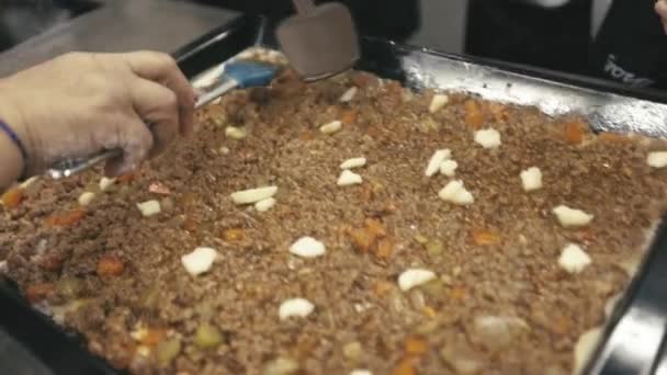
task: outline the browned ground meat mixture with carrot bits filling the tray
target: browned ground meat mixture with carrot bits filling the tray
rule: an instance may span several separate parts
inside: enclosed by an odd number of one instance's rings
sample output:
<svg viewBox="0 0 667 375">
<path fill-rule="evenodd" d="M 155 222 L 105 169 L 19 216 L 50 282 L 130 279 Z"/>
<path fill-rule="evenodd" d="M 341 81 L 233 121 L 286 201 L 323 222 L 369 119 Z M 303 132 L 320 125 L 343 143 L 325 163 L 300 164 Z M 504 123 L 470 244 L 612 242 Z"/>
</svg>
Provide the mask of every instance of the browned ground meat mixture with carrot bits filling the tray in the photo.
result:
<svg viewBox="0 0 667 375">
<path fill-rule="evenodd" d="M 229 94 L 197 113 L 192 138 L 104 191 L 92 171 L 8 192 L 4 272 L 136 374 L 568 374 L 665 208 L 667 174 L 647 157 L 667 146 L 432 98 L 364 72 L 312 84 L 286 72 Z M 501 143 L 485 148 L 475 134 L 489 128 Z M 425 175 L 440 149 L 454 177 Z M 337 184 L 361 157 L 362 182 Z M 531 167 L 542 188 L 527 192 Z M 474 203 L 439 197 L 455 180 Z M 269 185 L 268 211 L 230 198 Z M 144 216 L 151 200 L 161 211 Z M 565 227 L 561 205 L 592 220 Z M 291 252 L 303 237 L 325 253 Z M 575 270 L 561 259 L 569 245 L 584 252 Z M 199 247 L 217 259 L 193 276 L 182 257 Z M 301 316 L 281 319 L 293 298 Z"/>
</svg>

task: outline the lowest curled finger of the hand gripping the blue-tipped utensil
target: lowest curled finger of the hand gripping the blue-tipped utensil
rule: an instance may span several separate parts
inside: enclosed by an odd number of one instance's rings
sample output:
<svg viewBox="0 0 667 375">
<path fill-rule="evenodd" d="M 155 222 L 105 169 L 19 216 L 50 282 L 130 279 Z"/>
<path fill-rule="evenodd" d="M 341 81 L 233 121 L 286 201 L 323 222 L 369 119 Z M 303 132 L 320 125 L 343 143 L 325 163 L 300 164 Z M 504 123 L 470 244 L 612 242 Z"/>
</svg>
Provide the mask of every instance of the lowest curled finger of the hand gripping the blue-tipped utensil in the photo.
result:
<svg viewBox="0 0 667 375">
<path fill-rule="evenodd" d="M 108 177 L 125 174 L 137 169 L 152 149 L 152 135 L 139 117 L 124 117 L 116 126 L 117 147 L 123 149 L 123 156 L 106 162 L 104 174 Z"/>
</svg>

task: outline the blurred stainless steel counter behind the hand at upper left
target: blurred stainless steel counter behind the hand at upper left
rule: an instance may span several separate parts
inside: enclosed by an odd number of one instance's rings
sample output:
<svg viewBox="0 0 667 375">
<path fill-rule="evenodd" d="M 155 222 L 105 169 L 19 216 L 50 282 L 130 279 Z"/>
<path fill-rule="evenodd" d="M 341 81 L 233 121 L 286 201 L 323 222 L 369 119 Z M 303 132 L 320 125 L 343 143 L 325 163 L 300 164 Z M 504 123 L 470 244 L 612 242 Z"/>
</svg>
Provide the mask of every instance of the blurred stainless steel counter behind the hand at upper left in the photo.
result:
<svg viewBox="0 0 667 375">
<path fill-rule="evenodd" d="M 238 13 L 177 0 L 102 0 L 90 13 L 0 54 L 0 77 L 72 50 L 171 53 Z"/>
</svg>

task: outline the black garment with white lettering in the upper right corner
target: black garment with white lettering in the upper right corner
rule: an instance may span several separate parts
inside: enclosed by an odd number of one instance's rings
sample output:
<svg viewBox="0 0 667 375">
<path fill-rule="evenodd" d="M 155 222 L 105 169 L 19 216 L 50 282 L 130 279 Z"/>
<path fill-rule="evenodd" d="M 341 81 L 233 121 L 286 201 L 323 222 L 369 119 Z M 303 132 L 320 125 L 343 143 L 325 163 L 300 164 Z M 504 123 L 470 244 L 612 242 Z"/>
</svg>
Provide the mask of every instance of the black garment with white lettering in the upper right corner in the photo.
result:
<svg viewBox="0 0 667 375">
<path fill-rule="evenodd" d="M 655 0 L 615 0 L 592 42 L 596 76 L 636 88 L 667 88 L 667 36 Z"/>
</svg>

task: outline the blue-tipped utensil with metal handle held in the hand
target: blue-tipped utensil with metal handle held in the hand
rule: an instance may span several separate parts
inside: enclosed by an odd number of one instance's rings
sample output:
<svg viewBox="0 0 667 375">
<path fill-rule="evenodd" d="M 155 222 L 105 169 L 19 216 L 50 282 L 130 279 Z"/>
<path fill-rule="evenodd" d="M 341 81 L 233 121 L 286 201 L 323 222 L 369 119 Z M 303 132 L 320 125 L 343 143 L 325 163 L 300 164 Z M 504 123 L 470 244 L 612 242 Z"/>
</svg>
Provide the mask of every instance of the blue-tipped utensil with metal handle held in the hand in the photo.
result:
<svg viewBox="0 0 667 375">
<path fill-rule="evenodd" d="M 276 71 L 275 66 L 258 61 L 239 60 L 227 64 L 224 67 L 223 76 L 197 99 L 194 107 L 200 109 L 234 89 L 267 86 L 275 77 Z M 113 149 L 90 158 L 66 159 L 52 166 L 46 173 L 53 179 L 61 179 L 87 170 L 108 159 L 118 158 L 122 155 L 122 150 Z"/>
</svg>

